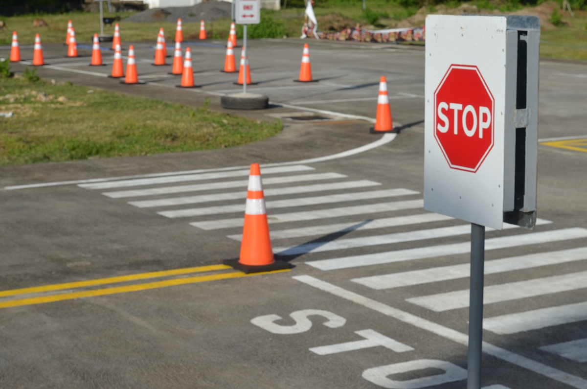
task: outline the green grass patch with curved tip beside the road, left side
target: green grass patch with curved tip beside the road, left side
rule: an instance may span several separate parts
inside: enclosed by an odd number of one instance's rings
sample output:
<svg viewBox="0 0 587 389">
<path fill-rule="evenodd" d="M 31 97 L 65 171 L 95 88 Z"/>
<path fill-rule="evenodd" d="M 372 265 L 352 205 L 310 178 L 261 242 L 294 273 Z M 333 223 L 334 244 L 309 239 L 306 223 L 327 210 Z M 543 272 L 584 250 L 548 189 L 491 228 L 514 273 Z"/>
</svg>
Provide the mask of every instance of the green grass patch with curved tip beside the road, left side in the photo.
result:
<svg viewBox="0 0 587 389">
<path fill-rule="evenodd" d="M 274 136 L 259 122 L 76 85 L 0 78 L 0 166 L 234 147 Z"/>
</svg>

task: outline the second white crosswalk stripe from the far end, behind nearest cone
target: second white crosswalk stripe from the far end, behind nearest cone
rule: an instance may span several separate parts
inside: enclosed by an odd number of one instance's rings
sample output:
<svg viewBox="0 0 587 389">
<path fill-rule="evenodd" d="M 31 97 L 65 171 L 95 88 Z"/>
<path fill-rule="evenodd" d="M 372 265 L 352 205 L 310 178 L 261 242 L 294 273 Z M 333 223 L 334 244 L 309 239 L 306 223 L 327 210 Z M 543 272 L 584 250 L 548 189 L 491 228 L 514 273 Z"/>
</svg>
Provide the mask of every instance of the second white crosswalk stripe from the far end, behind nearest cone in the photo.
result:
<svg viewBox="0 0 587 389">
<path fill-rule="evenodd" d="M 281 177 L 266 177 L 263 179 L 263 185 L 268 186 L 272 184 L 284 184 L 292 182 L 306 182 L 318 180 L 332 180 L 338 178 L 347 178 L 346 175 L 339 173 L 313 173 L 295 176 L 281 176 Z M 102 195 L 111 197 L 112 199 L 121 199 L 123 197 L 141 197 L 141 196 L 157 196 L 157 195 L 171 195 L 173 193 L 185 192 L 201 192 L 203 190 L 227 189 L 242 187 L 247 189 L 248 180 L 238 181 L 223 181 L 210 182 L 204 184 L 178 185 L 178 186 L 163 186 L 149 189 L 130 189 L 119 190 L 116 192 L 104 192 Z"/>
</svg>

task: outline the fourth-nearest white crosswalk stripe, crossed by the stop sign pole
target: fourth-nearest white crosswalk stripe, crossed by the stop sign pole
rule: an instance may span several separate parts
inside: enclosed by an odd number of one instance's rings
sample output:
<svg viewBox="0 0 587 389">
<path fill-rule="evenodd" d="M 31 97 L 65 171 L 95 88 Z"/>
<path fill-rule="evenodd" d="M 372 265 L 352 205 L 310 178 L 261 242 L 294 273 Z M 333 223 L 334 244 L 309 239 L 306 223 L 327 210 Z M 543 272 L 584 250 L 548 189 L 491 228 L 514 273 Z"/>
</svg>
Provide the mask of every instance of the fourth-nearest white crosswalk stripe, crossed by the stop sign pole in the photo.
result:
<svg viewBox="0 0 587 389">
<path fill-rule="evenodd" d="M 579 247 L 578 249 L 549 251 L 548 253 L 527 254 L 517 257 L 485 261 L 484 267 L 485 274 L 497 274 L 585 259 L 587 259 L 587 247 Z M 402 271 L 401 273 L 360 277 L 352 279 L 351 281 L 376 290 L 393 289 L 403 286 L 414 286 L 467 278 L 470 276 L 470 268 L 471 266 L 467 262 L 452 266 L 432 267 L 421 270 Z"/>
</svg>

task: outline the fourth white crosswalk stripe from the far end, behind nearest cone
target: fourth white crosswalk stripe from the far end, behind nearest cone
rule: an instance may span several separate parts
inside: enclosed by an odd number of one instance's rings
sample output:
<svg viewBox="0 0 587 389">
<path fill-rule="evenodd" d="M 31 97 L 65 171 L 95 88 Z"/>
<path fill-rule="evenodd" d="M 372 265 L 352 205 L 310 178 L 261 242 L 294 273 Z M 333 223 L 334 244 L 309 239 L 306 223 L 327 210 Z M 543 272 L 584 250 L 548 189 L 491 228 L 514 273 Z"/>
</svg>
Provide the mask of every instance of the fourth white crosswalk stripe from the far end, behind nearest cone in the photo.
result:
<svg viewBox="0 0 587 389">
<path fill-rule="evenodd" d="M 287 208 L 287 207 L 301 207 L 317 204 L 332 204 L 340 202 L 352 202 L 366 199 L 380 199 L 382 197 L 395 197 L 395 196 L 407 196 L 417 195 L 419 192 L 409 189 L 383 189 L 383 190 L 370 190 L 369 192 L 352 192 L 352 193 L 340 193 L 338 195 L 330 196 L 313 196 L 313 197 L 298 197 L 296 199 L 286 200 L 274 200 L 266 201 L 265 205 L 268 210 L 276 208 Z M 171 211 L 157 212 L 161 216 L 165 217 L 192 217 L 192 216 L 204 216 L 208 214 L 220 214 L 220 213 L 231 213 L 231 212 L 242 212 L 242 204 L 232 204 L 225 206 L 215 207 L 199 207 L 189 209 L 177 209 Z"/>
</svg>

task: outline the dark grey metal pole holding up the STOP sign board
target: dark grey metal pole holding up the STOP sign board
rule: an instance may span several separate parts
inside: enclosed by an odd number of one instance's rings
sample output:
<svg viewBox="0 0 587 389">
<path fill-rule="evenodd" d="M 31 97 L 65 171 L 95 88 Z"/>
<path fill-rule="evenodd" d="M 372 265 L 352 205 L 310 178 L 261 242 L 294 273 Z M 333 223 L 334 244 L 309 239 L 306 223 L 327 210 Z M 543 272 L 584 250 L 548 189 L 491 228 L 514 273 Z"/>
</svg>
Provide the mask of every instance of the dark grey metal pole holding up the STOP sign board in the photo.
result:
<svg viewBox="0 0 587 389">
<path fill-rule="evenodd" d="M 484 260 L 485 227 L 471 223 L 471 286 L 469 294 L 469 349 L 467 361 L 467 389 L 481 389 Z"/>
</svg>

